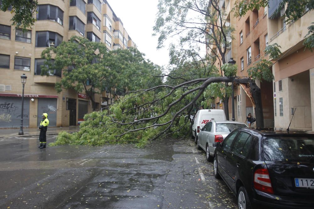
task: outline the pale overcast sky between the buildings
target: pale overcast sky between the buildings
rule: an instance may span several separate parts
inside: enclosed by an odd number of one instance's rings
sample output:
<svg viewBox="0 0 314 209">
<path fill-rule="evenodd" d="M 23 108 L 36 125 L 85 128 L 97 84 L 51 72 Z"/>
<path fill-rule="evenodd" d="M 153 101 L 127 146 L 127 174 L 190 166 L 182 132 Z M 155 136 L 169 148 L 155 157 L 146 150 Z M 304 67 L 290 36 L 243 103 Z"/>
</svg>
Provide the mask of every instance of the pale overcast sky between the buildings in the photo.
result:
<svg viewBox="0 0 314 209">
<path fill-rule="evenodd" d="M 157 50 L 157 36 L 152 36 L 158 0 L 107 0 L 123 27 L 144 53 L 146 59 L 157 65 L 167 65 L 168 46 Z"/>
</svg>

